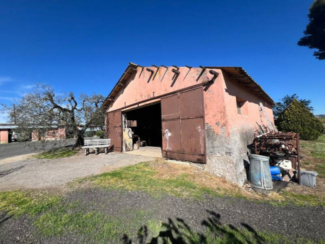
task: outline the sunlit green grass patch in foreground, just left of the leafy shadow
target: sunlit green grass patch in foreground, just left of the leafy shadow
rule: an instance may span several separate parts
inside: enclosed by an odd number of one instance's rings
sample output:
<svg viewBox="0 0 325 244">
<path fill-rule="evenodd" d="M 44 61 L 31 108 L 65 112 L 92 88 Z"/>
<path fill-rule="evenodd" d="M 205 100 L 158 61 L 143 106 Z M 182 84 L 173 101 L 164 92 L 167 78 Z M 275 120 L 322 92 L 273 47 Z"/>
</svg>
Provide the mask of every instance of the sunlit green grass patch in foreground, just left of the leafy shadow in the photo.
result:
<svg viewBox="0 0 325 244">
<path fill-rule="evenodd" d="M 157 227 L 155 220 L 150 219 L 151 215 L 146 210 L 129 209 L 113 216 L 96 210 L 87 211 L 77 202 L 71 202 L 60 203 L 43 213 L 33 225 L 45 236 L 73 234 L 82 236 L 85 242 L 115 243 L 120 241 L 123 234 L 134 236 L 143 223 L 153 228 L 152 233 L 156 233 Z"/>
</svg>

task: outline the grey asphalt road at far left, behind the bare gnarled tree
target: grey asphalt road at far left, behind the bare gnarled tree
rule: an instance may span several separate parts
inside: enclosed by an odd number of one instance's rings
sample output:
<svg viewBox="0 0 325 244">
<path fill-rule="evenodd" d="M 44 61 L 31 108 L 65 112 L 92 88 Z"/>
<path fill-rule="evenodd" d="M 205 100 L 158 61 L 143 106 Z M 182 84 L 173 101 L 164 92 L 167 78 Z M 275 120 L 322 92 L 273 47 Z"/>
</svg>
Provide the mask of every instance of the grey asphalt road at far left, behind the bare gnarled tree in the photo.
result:
<svg viewBox="0 0 325 244">
<path fill-rule="evenodd" d="M 0 144 L 0 160 L 33 152 L 41 152 L 58 146 L 73 145 L 74 139 L 53 141 L 28 141 Z"/>
</svg>

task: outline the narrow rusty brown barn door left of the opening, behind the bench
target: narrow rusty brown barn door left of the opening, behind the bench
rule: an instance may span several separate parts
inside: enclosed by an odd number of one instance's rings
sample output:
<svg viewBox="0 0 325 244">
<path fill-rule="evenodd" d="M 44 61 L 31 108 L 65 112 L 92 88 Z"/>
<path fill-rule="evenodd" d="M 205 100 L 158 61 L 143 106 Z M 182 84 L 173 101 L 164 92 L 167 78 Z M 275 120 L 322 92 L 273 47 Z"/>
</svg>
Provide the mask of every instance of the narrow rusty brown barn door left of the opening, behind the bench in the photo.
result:
<svg viewBox="0 0 325 244">
<path fill-rule="evenodd" d="M 114 147 L 115 152 L 122 150 L 122 113 L 121 110 L 109 112 L 106 115 L 106 133 L 107 139 L 110 139 L 110 145 Z"/>
</svg>

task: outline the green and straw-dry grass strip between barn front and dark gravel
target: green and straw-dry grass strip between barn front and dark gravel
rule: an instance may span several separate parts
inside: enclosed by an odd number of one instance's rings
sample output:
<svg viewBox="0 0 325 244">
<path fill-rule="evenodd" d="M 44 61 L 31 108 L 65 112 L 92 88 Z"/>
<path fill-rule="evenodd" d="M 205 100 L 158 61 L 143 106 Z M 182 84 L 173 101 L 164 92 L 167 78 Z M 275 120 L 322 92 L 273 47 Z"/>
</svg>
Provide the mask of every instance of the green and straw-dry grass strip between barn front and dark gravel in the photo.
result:
<svg viewBox="0 0 325 244">
<path fill-rule="evenodd" d="M 100 175 L 77 179 L 70 186 L 90 183 L 91 186 L 129 191 L 144 191 L 152 196 L 164 194 L 175 197 L 201 199 L 209 196 L 231 196 L 246 200 L 257 200 L 272 205 L 325 205 L 325 198 L 308 194 L 272 192 L 265 196 L 253 190 L 244 190 L 223 178 L 203 172 L 190 165 L 179 165 L 164 160 L 143 162 L 123 167 Z"/>
</svg>

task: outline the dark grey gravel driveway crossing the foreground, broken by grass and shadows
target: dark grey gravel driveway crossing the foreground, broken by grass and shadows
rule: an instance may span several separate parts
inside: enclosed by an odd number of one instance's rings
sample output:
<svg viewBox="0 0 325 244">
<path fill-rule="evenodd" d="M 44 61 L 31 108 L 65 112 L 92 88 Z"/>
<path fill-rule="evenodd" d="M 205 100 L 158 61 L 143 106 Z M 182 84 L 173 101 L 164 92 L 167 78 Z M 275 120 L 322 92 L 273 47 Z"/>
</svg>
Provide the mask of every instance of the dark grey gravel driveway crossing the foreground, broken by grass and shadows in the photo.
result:
<svg viewBox="0 0 325 244">
<path fill-rule="evenodd" d="M 244 228 L 253 233 L 256 230 L 267 230 L 293 240 L 298 237 L 325 238 L 324 207 L 277 207 L 231 197 L 207 197 L 199 201 L 172 196 L 154 198 L 139 191 L 121 192 L 103 189 L 80 189 L 69 192 L 66 201 L 78 201 L 87 211 L 99 211 L 116 218 L 122 218 L 125 221 L 130 217 L 128 214 L 132 210 L 143 209 L 147 213 L 152 213 L 150 218 L 169 222 L 169 226 L 178 228 L 178 230 L 180 230 L 180 225 L 188 225 L 190 231 L 202 231 L 204 233 L 205 224 L 212 223 L 217 228 L 222 228 L 220 224 L 226 224 L 232 229 L 239 231 L 238 228 Z M 143 222 L 139 222 L 134 227 L 138 229 L 143 224 Z M 35 227 L 29 218 L 9 218 L 2 225 L 0 224 L 0 232 L 2 233 L 0 243 L 1 241 L 3 243 L 14 243 L 17 239 L 28 243 L 83 242 L 82 235 L 67 234 L 41 237 L 33 234 L 36 233 L 34 230 Z M 122 235 L 123 233 L 120 233 L 120 237 Z M 128 237 L 134 240 L 136 236 Z M 267 241 L 257 237 L 258 235 L 256 235 L 258 240 L 256 243 L 267 243 Z M 121 243 L 122 241 L 116 242 Z"/>
</svg>

